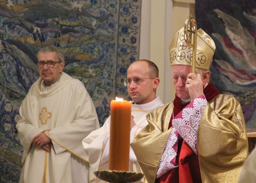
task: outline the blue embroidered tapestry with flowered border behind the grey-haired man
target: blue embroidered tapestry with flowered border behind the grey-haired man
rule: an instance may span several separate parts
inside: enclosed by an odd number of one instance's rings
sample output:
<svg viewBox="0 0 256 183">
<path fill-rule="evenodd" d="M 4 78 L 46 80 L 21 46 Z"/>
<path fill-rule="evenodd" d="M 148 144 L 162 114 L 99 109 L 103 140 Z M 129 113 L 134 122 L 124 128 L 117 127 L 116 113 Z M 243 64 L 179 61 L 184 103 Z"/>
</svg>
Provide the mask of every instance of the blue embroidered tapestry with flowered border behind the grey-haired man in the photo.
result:
<svg viewBox="0 0 256 183">
<path fill-rule="evenodd" d="M 55 45 L 64 72 L 81 80 L 101 125 L 139 58 L 141 0 L 0 1 L 0 182 L 18 182 L 23 148 L 15 128 L 19 107 L 38 79 L 37 51 Z"/>
</svg>

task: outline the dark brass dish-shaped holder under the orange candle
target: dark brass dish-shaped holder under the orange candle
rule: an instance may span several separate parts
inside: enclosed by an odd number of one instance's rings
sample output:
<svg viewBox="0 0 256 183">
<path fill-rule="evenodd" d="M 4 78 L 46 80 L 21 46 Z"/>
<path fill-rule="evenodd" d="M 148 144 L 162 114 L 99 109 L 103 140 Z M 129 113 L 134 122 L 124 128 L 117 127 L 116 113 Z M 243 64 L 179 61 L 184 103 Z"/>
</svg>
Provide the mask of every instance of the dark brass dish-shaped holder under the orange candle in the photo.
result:
<svg viewBox="0 0 256 183">
<path fill-rule="evenodd" d="M 106 182 L 113 183 L 130 183 L 136 182 L 142 179 L 144 176 L 142 173 L 130 172 L 130 171 L 117 171 L 117 170 L 100 170 L 94 171 L 94 174 Z"/>
</svg>

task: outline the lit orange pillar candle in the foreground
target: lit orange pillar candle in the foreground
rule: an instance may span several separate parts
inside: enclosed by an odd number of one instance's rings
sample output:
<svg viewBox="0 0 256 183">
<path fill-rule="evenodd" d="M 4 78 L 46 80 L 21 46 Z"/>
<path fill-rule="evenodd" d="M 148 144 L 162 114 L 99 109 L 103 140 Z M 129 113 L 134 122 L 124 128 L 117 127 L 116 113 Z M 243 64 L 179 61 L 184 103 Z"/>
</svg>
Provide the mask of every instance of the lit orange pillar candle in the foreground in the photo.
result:
<svg viewBox="0 0 256 183">
<path fill-rule="evenodd" d="M 109 170 L 129 171 L 130 119 L 132 102 L 110 102 Z"/>
</svg>

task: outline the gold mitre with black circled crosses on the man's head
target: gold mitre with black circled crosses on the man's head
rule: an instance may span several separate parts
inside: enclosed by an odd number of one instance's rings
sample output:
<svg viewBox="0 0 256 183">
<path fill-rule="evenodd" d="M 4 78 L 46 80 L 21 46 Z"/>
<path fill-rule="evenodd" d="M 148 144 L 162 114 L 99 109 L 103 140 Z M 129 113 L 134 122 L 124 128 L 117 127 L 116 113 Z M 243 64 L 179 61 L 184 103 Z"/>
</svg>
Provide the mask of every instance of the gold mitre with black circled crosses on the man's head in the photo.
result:
<svg viewBox="0 0 256 183">
<path fill-rule="evenodd" d="M 215 48 L 213 39 L 202 29 L 197 30 L 196 68 L 210 69 Z M 175 64 L 192 65 L 193 48 L 189 48 L 185 42 L 184 27 L 172 37 L 169 52 L 171 66 Z"/>
</svg>

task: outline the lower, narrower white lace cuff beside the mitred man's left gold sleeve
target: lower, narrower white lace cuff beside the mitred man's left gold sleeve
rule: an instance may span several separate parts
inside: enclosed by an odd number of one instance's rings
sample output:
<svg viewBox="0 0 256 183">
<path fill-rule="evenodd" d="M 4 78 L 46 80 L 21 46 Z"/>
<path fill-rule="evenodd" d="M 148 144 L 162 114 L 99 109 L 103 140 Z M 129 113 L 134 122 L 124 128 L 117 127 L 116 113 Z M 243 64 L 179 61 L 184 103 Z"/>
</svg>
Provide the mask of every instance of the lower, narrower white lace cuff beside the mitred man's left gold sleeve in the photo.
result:
<svg viewBox="0 0 256 183">
<path fill-rule="evenodd" d="M 174 146 L 177 146 L 178 141 L 178 132 L 173 129 L 169 135 L 169 138 L 167 140 L 163 156 L 160 160 L 160 163 L 158 165 L 157 170 L 157 178 L 163 176 L 167 171 L 176 168 L 178 165 L 173 165 L 173 159 L 175 160 L 175 157 L 177 155 L 177 148 L 174 148 Z M 175 162 L 175 161 L 174 161 Z"/>
</svg>

